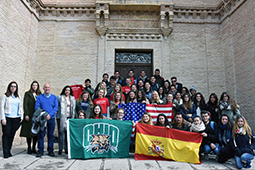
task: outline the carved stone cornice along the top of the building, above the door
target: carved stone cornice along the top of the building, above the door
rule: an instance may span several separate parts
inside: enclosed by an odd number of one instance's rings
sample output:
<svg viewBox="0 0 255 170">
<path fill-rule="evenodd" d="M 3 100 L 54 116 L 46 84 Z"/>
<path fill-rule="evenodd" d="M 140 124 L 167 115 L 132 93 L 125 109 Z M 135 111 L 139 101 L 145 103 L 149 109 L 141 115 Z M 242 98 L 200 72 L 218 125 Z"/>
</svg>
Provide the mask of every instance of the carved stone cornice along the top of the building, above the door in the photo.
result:
<svg viewBox="0 0 255 170">
<path fill-rule="evenodd" d="M 178 6 L 164 0 L 96 0 L 94 4 L 21 1 L 40 21 L 93 21 L 100 36 L 110 34 L 108 30 L 130 33 L 133 29 L 151 29 L 151 35 L 160 32 L 166 38 L 174 29 L 173 23 L 220 24 L 246 0 L 220 0 L 216 6 Z"/>
</svg>

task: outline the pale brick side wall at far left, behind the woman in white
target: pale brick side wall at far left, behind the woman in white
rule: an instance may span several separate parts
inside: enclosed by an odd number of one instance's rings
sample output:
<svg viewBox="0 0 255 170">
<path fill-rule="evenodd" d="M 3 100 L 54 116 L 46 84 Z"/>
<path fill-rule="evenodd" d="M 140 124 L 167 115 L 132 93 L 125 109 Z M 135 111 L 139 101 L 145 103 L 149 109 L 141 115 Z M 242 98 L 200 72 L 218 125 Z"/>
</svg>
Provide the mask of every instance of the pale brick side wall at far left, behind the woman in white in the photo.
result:
<svg viewBox="0 0 255 170">
<path fill-rule="evenodd" d="M 1 97 L 11 81 L 18 83 L 19 94 L 23 97 L 34 80 L 38 20 L 21 1 L 3 0 L 0 3 L 0 23 Z M 18 136 L 19 131 L 15 144 L 25 141 Z"/>
</svg>

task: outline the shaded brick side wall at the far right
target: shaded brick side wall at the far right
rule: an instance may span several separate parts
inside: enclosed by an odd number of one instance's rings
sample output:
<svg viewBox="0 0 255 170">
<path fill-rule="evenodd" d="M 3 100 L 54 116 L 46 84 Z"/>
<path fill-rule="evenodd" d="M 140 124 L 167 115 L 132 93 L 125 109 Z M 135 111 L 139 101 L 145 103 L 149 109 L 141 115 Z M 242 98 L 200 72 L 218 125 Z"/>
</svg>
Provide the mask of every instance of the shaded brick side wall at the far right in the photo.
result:
<svg viewBox="0 0 255 170">
<path fill-rule="evenodd" d="M 255 2 L 246 1 L 222 23 L 226 90 L 236 99 L 250 125 L 255 128 Z"/>
</svg>

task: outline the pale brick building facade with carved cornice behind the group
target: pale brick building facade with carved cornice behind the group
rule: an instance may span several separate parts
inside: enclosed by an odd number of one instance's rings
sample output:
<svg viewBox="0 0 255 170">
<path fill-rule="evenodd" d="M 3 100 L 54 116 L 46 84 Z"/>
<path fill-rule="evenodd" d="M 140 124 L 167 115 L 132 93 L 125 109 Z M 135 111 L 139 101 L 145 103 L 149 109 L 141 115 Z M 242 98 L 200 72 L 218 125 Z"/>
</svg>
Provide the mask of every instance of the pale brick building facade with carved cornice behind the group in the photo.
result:
<svg viewBox="0 0 255 170">
<path fill-rule="evenodd" d="M 12 80 L 21 95 L 33 80 L 56 95 L 86 78 L 95 86 L 118 52 L 146 52 L 152 71 L 206 101 L 229 92 L 255 127 L 254 9 L 254 0 L 3 0 L 0 92 Z"/>
</svg>

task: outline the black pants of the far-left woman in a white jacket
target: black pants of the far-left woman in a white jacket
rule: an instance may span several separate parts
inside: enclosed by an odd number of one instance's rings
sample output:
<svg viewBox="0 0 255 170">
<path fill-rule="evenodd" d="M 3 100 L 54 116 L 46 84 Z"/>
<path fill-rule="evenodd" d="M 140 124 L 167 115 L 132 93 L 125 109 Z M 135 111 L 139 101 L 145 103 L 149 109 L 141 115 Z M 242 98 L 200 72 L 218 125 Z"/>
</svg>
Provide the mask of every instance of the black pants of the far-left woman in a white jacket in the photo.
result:
<svg viewBox="0 0 255 170">
<path fill-rule="evenodd" d="M 20 118 L 8 118 L 6 117 L 6 125 L 2 124 L 3 136 L 3 154 L 5 158 L 8 158 L 11 155 L 12 142 L 15 136 L 16 131 L 20 126 Z"/>
</svg>

